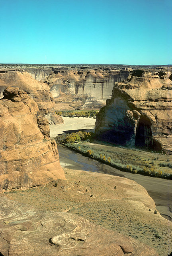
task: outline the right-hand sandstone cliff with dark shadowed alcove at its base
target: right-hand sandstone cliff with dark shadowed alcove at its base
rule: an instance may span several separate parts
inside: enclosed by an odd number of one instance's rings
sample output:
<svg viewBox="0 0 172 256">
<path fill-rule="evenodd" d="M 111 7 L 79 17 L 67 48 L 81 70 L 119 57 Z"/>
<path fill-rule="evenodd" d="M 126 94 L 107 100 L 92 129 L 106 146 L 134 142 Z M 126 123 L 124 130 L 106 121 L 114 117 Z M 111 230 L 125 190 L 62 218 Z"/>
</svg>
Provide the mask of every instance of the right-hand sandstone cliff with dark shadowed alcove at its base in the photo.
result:
<svg viewBox="0 0 172 256">
<path fill-rule="evenodd" d="M 96 136 L 172 154 L 172 71 L 134 70 L 116 83 L 96 118 Z"/>
</svg>

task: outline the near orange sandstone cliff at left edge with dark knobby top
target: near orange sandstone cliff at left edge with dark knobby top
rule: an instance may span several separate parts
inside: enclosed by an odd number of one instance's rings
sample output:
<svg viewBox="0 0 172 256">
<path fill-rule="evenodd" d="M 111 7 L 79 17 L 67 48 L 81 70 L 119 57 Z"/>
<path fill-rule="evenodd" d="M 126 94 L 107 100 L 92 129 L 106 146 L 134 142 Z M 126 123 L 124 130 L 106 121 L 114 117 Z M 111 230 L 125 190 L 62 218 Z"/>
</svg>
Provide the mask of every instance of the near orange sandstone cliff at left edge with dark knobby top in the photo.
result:
<svg viewBox="0 0 172 256">
<path fill-rule="evenodd" d="M 19 88 L 8 87 L 0 100 L 0 190 L 30 188 L 65 179 L 49 124 Z"/>
</svg>

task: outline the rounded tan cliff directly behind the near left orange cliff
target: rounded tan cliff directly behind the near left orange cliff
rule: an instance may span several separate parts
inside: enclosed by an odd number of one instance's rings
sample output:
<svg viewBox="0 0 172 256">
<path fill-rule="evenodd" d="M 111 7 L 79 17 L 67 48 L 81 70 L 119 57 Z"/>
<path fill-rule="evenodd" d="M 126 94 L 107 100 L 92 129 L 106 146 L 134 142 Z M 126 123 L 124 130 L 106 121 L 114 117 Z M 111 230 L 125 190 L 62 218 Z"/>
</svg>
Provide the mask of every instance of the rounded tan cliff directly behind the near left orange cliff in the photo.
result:
<svg viewBox="0 0 172 256">
<path fill-rule="evenodd" d="M 54 113 L 54 99 L 49 91 L 49 86 L 43 82 L 39 82 L 31 77 L 25 71 L 0 71 L 0 96 L 2 98 L 3 91 L 6 87 L 18 86 L 20 90 L 27 92 L 37 103 L 40 115 L 48 115 L 50 124 L 63 123 L 63 119 Z M 51 118 L 53 114 L 53 118 Z"/>
</svg>

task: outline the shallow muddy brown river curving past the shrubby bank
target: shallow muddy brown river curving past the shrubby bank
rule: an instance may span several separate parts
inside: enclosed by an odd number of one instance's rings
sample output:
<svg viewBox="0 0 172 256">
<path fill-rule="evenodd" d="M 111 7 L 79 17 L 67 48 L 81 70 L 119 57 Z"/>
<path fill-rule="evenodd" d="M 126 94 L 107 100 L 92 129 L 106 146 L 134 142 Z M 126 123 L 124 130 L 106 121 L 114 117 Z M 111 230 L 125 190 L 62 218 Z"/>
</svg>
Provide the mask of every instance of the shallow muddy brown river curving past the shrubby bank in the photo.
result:
<svg viewBox="0 0 172 256">
<path fill-rule="evenodd" d="M 58 146 L 58 150 L 60 163 L 64 168 L 105 173 L 134 180 L 146 188 L 149 195 L 153 198 L 156 209 L 160 214 L 164 218 L 172 221 L 172 180 L 122 172 L 111 166 L 82 156 L 68 148 Z"/>
</svg>

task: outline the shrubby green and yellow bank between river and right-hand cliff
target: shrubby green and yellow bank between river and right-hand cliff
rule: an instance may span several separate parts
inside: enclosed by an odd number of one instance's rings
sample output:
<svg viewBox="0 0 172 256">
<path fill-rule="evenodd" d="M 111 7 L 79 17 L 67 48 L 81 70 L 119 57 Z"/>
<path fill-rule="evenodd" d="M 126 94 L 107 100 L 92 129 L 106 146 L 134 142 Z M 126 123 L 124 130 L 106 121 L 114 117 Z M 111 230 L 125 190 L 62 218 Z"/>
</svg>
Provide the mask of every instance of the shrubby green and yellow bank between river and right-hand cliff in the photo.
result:
<svg viewBox="0 0 172 256">
<path fill-rule="evenodd" d="M 104 146 L 104 149 L 102 149 L 103 146 L 98 144 L 85 143 L 90 140 L 92 141 L 93 136 L 93 133 L 79 131 L 72 132 L 71 134 L 61 134 L 55 140 L 57 143 L 64 144 L 66 147 L 84 156 L 88 156 L 125 172 L 172 179 L 172 172 L 170 170 L 172 163 L 168 161 L 166 163 L 160 162 L 161 159 L 159 160 L 159 157 L 155 158 L 154 154 L 152 159 L 143 158 L 141 150 L 135 150 L 134 153 L 131 149 L 110 146 Z M 167 168 L 165 169 L 164 167 Z"/>
</svg>

